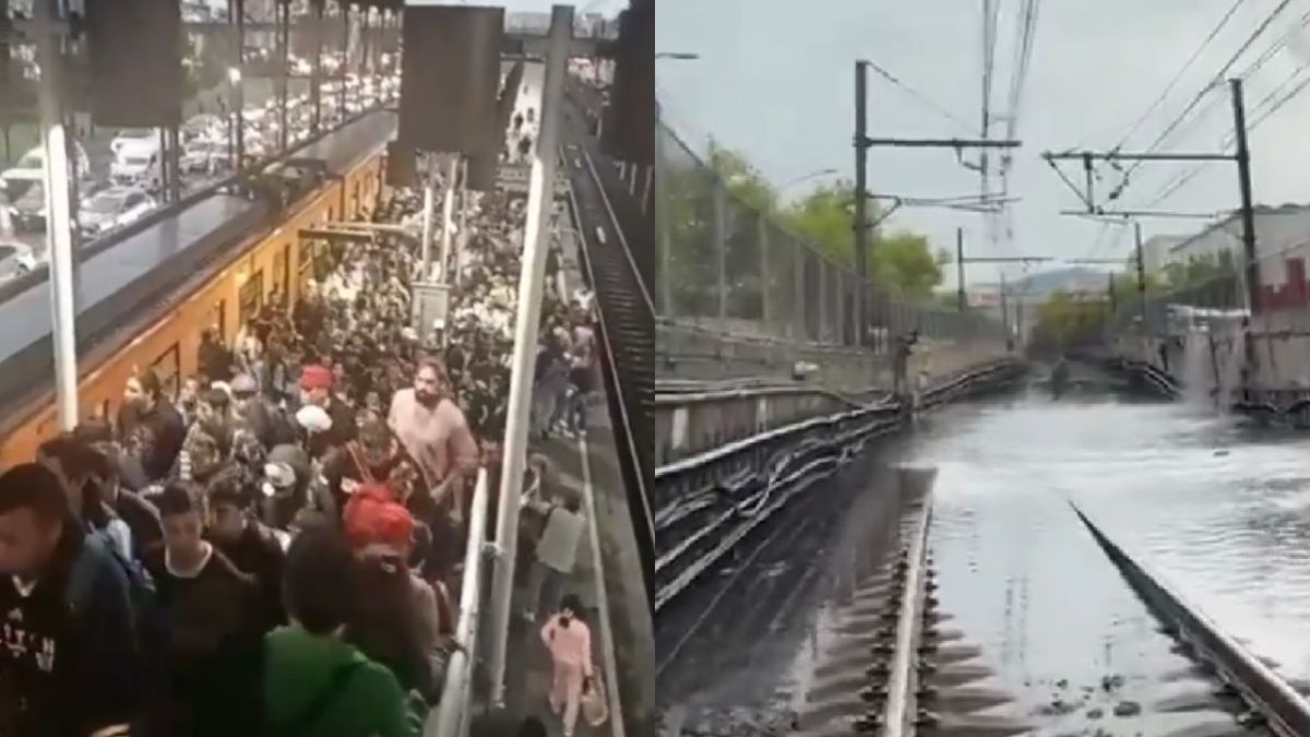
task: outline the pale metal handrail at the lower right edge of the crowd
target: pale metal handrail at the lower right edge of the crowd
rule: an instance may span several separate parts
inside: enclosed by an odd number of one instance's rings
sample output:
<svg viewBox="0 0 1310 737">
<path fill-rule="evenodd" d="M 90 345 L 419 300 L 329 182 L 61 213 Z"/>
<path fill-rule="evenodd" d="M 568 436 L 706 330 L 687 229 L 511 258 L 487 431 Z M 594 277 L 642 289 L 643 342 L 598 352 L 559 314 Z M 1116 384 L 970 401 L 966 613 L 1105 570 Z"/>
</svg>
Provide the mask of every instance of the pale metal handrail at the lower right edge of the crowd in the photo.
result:
<svg viewBox="0 0 1310 737">
<path fill-rule="evenodd" d="M 469 511 L 469 540 L 464 548 L 464 584 L 460 588 L 460 619 L 455 624 L 456 649 L 445 665 L 436 720 L 428 720 L 424 737 L 458 737 L 468 732 L 473 715 L 473 653 L 478 643 L 482 606 L 482 548 L 486 544 L 487 472 L 478 468 L 478 483 Z"/>
</svg>

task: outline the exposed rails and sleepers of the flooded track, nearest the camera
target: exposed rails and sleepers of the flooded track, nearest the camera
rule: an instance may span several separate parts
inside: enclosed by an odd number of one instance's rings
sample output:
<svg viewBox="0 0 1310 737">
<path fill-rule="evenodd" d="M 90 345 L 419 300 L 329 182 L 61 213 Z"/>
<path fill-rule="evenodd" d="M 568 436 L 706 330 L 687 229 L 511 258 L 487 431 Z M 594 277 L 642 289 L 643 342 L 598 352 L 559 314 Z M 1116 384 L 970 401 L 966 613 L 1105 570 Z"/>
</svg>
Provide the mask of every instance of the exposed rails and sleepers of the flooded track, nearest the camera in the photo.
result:
<svg viewBox="0 0 1310 737">
<path fill-rule="evenodd" d="M 931 484 L 929 484 L 930 487 Z M 909 500 L 893 544 L 838 615 L 817 661 L 795 734 L 837 737 L 1310 737 L 1310 704 L 1239 643 L 1133 560 L 1077 508 L 1076 518 L 1157 627 L 1142 652 L 1166 643 L 1155 670 L 1129 682 L 1047 685 L 1034 707 L 998 678 L 982 647 L 941 603 L 930 493 Z M 1070 585 L 1078 585 L 1077 577 Z M 1108 647 L 1108 645 L 1107 645 Z M 1154 683 L 1144 687 L 1142 681 Z M 1023 686 L 1032 686 L 1024 683 Z M 1149 703 L 1133 700 L 1150 692 Z"/>
</svg>

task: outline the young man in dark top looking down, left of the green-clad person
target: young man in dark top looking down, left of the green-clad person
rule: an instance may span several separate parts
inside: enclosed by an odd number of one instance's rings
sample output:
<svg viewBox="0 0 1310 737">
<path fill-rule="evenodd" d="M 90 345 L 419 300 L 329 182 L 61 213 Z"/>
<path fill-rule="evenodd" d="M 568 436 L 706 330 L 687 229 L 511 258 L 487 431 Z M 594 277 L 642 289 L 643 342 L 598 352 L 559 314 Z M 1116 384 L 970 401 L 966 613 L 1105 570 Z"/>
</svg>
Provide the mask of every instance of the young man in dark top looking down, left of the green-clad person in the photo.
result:
<svg viewBox="0 0 1310 737">
<path fill-rule="evenodd" d="M 149 698 L 147 737 L 250 734 L 258 729 L 263 622 L 252 577 L 200 532 L 199 489 L 174 481 L 157 506 L 164 547 L 147 565 L 159 589 L 164 674 Z"/>
</svg>

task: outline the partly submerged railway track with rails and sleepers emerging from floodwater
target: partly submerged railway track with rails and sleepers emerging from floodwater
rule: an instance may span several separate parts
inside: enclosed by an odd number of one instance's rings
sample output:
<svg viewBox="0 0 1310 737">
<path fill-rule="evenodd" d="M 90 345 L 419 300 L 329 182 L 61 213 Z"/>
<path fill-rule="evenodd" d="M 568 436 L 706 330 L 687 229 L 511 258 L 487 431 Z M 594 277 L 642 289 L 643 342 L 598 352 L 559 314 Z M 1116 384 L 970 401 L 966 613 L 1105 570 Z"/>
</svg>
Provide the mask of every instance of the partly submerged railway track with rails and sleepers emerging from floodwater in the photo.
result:
<svg viewBox="0 0 1310 737">
<path fill-rule="evenodd" d="M 1191 675 L 1210 683 L 1207 703 L 1187 709 L 1226 712 L 1230 721 L 1170 729 L 1167 734 L 1207 736 L 1310 736 L 1310 703 L 1288 682 L 1212 620 L 1172 586 L 1111 540 L 1082 510 L 1074 513 L 1128 586 L 1158 623 L 1157 631 L 1174 641 L 1172 652 L 1192 662 Z M 980 648 L 950 628 L 950 614 L 939 610 L 938 584 L 929 527 L 931 504 L 910 502 L 904 513 L 895 553 L 869 577 L 846 607 L 837 640 L 816 667 L 804 708 L 798 712 L 795 734 L 838 737 L 1019 737 L 1026 734 L 1151 734 L 1102 729 L 1048 730 L 1043 711 L 1015 715 L 1017 699 L 990 687 L 992 670 Z M 1157 674 L 1166 678 L 1165 673 Z M 1103 683 L 1110 691 L 1121 683 Z M 1078 704 L 1064 704 L 1078 708 Z M 1053 707 L 1058 711 L 1060 704 Z M 1136 716 L 1132 707 L 1115 716 Z M 1179 711 L 1183 707 L 1176 707 Z M 1090 708 L 1090 719 L 1102 709 Z M 1170 711 L 1163 708 L 1161 711 Z M 1047 716 L 1051 712 L 1045 712 Z M 1108 716 L 1108 715 L 1104 715 Z M 1091 724 L 1091 723 L 1089 723 Z M 1107 725 L 1110 727 L 1110 725 Z"/>
</svg>

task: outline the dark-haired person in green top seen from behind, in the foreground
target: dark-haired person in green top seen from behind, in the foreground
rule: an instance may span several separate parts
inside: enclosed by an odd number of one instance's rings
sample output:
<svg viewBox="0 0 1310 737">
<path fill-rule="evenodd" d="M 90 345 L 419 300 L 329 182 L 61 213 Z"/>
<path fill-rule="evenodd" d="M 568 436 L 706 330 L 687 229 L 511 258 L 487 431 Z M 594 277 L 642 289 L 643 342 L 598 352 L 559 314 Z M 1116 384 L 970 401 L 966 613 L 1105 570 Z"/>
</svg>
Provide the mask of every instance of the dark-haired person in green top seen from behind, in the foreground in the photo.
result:
<svg viewBox="0 0 1310 737">
<path fill-rule="evenodd" d="M 415 737 L 396 677 L 342 640 L 354 591 L 352 553 L 330 528 L 301 532 L 287 551 L 291 619 L 265 636 L 265 727 L 278 737 Z"/>
</svg>

